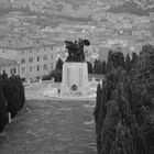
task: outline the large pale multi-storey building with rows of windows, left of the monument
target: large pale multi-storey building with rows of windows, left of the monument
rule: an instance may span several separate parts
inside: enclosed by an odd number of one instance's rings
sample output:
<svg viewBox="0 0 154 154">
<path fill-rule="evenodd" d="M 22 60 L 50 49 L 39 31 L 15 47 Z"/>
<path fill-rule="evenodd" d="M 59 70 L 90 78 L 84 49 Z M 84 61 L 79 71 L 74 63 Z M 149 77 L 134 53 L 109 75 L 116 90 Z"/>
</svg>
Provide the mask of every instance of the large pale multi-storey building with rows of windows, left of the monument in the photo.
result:
<svg viewBox="0 0 154 154">
<path fill-rule="evenodd" d="M 0 56 L 15 61 L 19 65 L 19 75 L 25 80 L 42 78 L 55 68 L 56 58 L 52 44 L 1 44 Z"/>
</svg>

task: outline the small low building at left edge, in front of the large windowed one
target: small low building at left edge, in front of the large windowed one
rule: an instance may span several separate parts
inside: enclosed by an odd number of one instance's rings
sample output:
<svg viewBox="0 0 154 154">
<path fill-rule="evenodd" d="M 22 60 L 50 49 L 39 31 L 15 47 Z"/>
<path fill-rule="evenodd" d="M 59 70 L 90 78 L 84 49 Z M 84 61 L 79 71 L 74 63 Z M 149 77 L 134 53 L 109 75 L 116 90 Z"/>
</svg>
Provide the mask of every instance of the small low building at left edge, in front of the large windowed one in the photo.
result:
<svg viewBox="0 0 154 154">
<path fill-rule="evenodd" d="M 0 57 L 0 74 L 2 74 L 3 72 L 7 73 L 8 77 L 10 77 L 12 73 L 18 75 L 19 74 L 18 63 L 12 59 Z"/>
</svg>

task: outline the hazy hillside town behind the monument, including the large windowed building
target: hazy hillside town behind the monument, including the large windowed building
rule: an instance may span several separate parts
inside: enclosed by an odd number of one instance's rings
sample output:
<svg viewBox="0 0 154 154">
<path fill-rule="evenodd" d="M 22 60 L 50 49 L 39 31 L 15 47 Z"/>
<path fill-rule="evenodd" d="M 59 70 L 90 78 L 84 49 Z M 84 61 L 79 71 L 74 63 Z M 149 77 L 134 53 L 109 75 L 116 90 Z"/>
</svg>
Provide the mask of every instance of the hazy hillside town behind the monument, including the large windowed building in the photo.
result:
<svg viewBox="0 0 154 154">
<path fill-rule="evenodd" d="M 92 64 L 95 59 L 107 61 L 109 50 L 131 55 L 144 44 L 154 44 L 154 12 L 113 13 L 106 11 L 106 4 L 91 13 L 90 3 L 75 10 L 65 3 L 54 8 L 47 0 L 0 2 L 0 72 L 11 75 L 13 69 L 23 79 L 47 75 L 58 57 L 65 61 L 65 40 L 88 38 L 91 45 L 85 54 Z"/>
</svg>

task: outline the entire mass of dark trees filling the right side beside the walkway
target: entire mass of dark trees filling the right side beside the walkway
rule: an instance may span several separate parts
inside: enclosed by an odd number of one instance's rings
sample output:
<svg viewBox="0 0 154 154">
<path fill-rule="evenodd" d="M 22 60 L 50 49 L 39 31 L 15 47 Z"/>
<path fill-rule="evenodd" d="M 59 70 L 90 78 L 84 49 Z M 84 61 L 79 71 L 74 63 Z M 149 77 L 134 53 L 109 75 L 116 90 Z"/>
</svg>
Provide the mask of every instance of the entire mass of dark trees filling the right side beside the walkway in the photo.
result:
<svg viewBox="0 0 154 154">
<path fill-rule="evenodd" d="M 144 45 L 125 63 L 110 51 L 107 69 L 95 110 L 98 154 L 153 154 L 154 47 Z"/>
</svg>

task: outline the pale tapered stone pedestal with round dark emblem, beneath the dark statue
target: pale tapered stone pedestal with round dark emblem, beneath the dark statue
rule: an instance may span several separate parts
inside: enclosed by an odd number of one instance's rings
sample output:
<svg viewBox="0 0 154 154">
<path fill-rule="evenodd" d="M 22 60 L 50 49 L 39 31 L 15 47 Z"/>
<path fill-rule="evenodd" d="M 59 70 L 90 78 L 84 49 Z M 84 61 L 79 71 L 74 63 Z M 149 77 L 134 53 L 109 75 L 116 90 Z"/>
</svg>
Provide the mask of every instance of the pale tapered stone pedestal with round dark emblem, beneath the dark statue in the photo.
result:
<svg viewBox="0 0 154 154">
<path fill-rule="evenodd" d="M 89 92 L 87 63 L 64 63 L 62 96 L 86 96 Z"/>
</svg>

